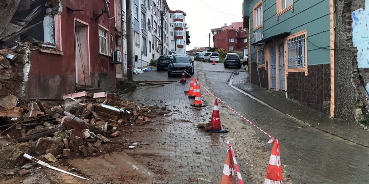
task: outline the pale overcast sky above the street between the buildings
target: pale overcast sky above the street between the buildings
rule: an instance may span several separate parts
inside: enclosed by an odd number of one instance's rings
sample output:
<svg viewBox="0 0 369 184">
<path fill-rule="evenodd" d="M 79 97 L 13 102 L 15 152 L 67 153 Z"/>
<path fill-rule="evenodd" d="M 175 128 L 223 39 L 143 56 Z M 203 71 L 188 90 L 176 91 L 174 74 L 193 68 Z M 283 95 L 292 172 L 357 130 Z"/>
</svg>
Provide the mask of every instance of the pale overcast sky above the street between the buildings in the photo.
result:
<svg viewBox="0 0 369 184">
<path fill-rule="evenodd" d="M 170 10 L 182 10 L 187 14 L 186 23 L 189 26 L 190 45 L 186 50 L 193 47 L 209 45 L 210 29 L 219 28 L 227 23 L 242 21 L 243 0 L 166 0 Z M 203 3 L 201 3 L 201 2 Z M 210 6 L 207 7 L 206 5 Z M 220 13 L 216 10 L 222 11 Z M 239 17 L 232 16 L 239 15 Z M 211 46 L 213 46 L 213 35 L 211 34 Z"/>
</svg>

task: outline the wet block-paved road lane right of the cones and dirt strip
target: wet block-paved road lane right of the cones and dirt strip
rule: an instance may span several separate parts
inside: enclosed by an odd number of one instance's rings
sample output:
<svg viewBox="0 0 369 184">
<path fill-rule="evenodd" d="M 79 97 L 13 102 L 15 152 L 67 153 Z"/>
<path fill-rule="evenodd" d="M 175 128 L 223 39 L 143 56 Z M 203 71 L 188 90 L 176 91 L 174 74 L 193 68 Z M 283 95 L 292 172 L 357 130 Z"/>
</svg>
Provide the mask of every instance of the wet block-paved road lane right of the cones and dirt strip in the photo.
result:
<svg viewBox="0 0 369 184">
<path fill-rule="evenodd" d="M 293 183 L 368 183 L 368 148 L 299 123 L 251 99 L 228 85 L 232 70 L 223 65 L 201 63 L 201 68 L 216 96 L 279 139 L 281 162 Z M 262 132 L 258 136 L 268 141 Z"/>
</svg>

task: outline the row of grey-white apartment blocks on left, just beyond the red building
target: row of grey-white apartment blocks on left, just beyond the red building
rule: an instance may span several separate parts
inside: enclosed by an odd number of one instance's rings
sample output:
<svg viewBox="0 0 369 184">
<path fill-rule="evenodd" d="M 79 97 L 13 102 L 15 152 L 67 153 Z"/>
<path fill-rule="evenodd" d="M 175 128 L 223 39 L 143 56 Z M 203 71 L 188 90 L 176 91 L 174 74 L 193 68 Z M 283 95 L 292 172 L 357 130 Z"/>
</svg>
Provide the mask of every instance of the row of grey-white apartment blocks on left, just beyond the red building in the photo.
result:
<svg viewBox="0 0 369 184">
<path fill-rule="evenodd" d="M 163 54 L 169 54 L 168 11 L 166 0 L 132 0 L 134 31 L 135 68 L 147 66 L 151 59 L 161 56 L 161 15 L 163 15 Z M 122 0 L 122 14 L 127 16 L 125 0 Z M 129 12 L 128 12 L 129 13 Z M 123 19 L 123 45 L 127 45 L 127 20 Z M 123 64 L 117 67 L 117 78 L 123 78 L 127 69 L 127 47 L 123 49 Z M 118 71 L 119 70 L 119 71 Z"/>
</svg>

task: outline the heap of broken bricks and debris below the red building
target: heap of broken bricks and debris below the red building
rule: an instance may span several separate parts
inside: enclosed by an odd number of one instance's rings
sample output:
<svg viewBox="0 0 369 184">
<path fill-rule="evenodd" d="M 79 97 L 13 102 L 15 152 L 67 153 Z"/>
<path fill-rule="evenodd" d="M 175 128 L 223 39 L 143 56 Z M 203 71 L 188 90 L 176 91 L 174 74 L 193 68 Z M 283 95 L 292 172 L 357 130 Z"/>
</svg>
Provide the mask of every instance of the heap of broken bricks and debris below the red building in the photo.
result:
<svg viewBox="0 0 369 184">
<path fill-rule="evenodd" d="M 71 153 L 96 155 L 100 144 L 111 142 L 108 138 L 119 136 L 124 126 L 150 123 L 149 118 L 156 117 L 153 111 L 153 106 L 139 107 L 107 92 L 72 93 L 52 107 L 39 99 L 18 102 L 8 95 L 0 99 L 0 132 L 20 143 L 9 156 L 18 166 L 30 162 L 24 153 L 56 162 Z M 0 140 L 1 148 L 15 142 L 8 141 Z"/>
</svg>

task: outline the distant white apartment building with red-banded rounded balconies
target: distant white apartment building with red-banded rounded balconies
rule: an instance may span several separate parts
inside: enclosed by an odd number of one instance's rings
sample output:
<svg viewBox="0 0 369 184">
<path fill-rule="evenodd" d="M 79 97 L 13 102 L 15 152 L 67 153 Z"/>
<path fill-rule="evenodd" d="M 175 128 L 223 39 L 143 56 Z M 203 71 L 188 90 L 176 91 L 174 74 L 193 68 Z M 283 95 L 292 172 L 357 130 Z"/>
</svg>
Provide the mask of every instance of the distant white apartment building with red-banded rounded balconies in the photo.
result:
<svg viewBox="0 0 369 184">
<path fill-rule="evenodd" d="M 186 55 L 186 13 L 180 10 L 169 10 L 169 49 L 180 55 Z"/>
</svg>

